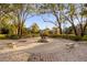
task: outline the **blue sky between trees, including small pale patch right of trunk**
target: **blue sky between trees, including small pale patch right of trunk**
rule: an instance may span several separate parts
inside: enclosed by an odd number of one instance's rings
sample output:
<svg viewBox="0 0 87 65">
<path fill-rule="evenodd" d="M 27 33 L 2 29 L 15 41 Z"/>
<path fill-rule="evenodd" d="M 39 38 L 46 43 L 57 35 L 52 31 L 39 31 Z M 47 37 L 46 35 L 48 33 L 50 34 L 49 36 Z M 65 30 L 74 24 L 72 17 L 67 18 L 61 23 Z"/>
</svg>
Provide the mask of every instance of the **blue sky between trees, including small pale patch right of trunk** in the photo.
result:
<svg viewBox="0 0 87 65">
<path fill-rule="evenodd" d="M 45 20 L 50 20 L 54 22 L 56 21 L 55 17 L 53 17 L 52 14 L 44 14 L 43 17 L 45 18 Z M 46 28 L 52 29 L 53 26 L 55 26 L 53 23 L 44 22 L 40 15 L 35 15 L 26 19 L 25 26 L 30 28 L 33 23 L 36 23 L 41 30 L 44 30 Z M 69 25 L 70 24 L 68 23 L 67 25 L 64 24 L 63 26 L 69 26 Z"/>
</svg>

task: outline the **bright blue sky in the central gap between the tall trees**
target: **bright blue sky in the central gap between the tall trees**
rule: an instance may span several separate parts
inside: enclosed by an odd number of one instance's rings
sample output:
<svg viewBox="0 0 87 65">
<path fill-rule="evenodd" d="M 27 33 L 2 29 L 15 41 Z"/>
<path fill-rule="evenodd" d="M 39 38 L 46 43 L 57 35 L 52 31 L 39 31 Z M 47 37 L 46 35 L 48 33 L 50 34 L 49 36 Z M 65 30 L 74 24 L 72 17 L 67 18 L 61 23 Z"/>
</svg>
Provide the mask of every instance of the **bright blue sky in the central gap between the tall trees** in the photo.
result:
<svg viewBox="0 0 87 65">
<path fill-rule="evenodd" d="M 52 15 L 45 15 L 45 17 L 50 18 L 51 20 L 54 20 L 54 18 Z M 39 17 L 39 15 L 26 19 L 25 26 L 30 28 L 33 23 L 37 23 L 37 25 L 42 30 L 45 29 L 45 28 L 52 29 L 53 26 L 55 26 L 54 24 L 52 24 L 50 22 L 44 22 L 43 19 L 41 17 Z"/>
</svg>

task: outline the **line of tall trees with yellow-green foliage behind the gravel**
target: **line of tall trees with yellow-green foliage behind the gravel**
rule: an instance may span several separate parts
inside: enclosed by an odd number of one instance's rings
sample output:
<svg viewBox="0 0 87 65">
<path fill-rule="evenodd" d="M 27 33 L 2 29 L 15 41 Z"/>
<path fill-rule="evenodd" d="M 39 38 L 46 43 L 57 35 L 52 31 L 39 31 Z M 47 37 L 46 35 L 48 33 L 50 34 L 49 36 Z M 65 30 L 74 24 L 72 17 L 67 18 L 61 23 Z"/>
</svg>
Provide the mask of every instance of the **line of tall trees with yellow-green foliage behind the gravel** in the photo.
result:
<svg viewBox="0 0 87 65">
<path fill-rule="evenodd" d="M 44 14 L 52 14 L 55 21 L 47 19 Z M 53 32 L 57 34 L 73 34 L 84 36 L 87 31 L 87 4 L 83 3 L 7 3 L 0 4 L 0 33 L 17 34 L 22 37 L 29 34 L 30 30 L 33 34 L 40 33 L 40 28 L 36 23 L 31 29 L 26 29 L 24 23 L 26 19 L 34 15 L 42 18 L 44 22 L 54 24 Z M 67 29 L 63 25 L 68 25 Z M 70 29 L 70 30 L 69 30 Z M 51 30 L 44 30 L 46 35 L 53 33 Z"/>
</svg>

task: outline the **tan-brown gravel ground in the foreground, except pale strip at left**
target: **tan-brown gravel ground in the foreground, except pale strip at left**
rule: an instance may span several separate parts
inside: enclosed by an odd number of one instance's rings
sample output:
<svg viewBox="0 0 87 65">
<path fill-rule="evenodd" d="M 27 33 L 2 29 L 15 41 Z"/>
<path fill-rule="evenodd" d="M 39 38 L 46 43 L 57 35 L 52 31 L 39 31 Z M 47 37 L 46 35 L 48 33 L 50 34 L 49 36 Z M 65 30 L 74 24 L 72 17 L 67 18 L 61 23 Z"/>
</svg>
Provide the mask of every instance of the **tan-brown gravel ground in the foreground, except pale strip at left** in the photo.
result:
<svg viewBox="0 0 87 65">
<path fill-rule="evenodd" d="M 35 43 L 39 39 L 0 40 L 0 45 L 6 42 L 17 42 L 18 46 Z M 0 53 L 1 62 L 87 62 L 86 42 L 74 42 L 63 39 L 48 39 L 44 43 L 32 48 L 15 52 Z M 37 42 L 36 42 L 37 43 Z M 74 43 L 74 48 L 67 48 L 66 44 Z M 80 43 L 80 44 L 79 44 Z"/>
</svg>

